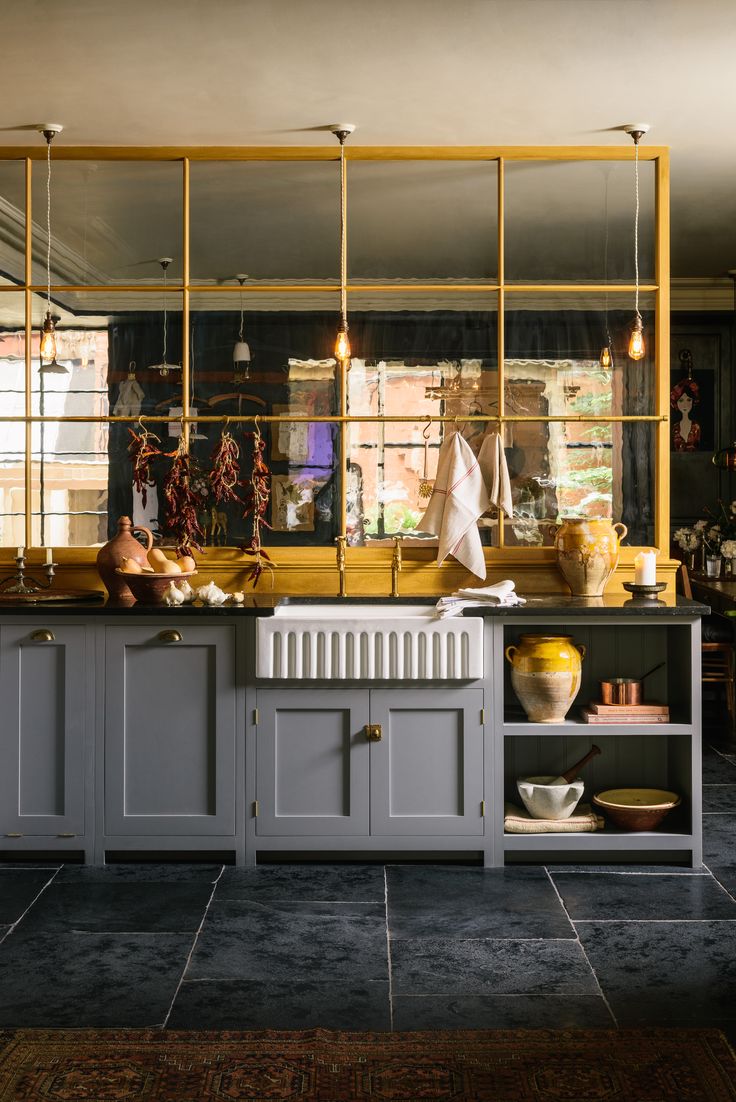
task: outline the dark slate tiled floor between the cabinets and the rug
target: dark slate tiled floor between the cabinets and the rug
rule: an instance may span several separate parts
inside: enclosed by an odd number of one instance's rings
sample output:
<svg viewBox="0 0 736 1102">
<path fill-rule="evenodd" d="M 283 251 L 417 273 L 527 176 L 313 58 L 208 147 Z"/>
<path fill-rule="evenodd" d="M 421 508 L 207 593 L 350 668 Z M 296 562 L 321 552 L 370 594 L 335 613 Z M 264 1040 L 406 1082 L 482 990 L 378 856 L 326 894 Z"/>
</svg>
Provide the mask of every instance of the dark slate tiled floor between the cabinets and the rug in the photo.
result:
<svg viewBox="0 0 736 1102">
<path fill-rule="evenodd" d="M 0 1026 L 718 1026 L 736 1039 L 736 753 L 704 865 L 0 866 Z"/>
</svg>

